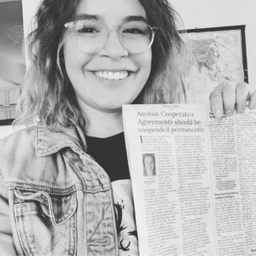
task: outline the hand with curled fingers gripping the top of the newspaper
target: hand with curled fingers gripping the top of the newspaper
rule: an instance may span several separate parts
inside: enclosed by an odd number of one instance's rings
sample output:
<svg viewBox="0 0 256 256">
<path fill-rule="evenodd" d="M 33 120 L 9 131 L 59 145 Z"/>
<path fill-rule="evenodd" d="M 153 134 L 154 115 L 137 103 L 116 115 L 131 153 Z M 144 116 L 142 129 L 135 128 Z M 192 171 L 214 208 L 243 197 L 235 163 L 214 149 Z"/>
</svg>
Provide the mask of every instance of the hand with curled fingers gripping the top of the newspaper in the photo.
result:
<svg viewBox="0 0 256 256">
<path fill-rule="evenodd" d="M 236 86 L 231 83 L 220 84 L 212 91 L 210 102 L 212 113 L 217 118 L 223 114 L 230 116 L 235 110 L 243 113 L 247 107 L 256 108 L 256 90 L 250 93 L 249 85 L 243 82 Z"/>
</svg>

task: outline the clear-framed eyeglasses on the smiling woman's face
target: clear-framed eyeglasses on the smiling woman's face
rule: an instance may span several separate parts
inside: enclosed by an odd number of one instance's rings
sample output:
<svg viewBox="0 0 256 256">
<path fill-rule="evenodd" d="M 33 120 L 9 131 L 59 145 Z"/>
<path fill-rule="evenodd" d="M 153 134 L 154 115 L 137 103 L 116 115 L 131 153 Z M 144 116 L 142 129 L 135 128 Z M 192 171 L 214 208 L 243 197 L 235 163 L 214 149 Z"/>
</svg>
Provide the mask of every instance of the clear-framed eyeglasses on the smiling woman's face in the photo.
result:
<svg viewBox="0 0 256 256">
<path fill-rule="evenodd" d="M 110 32 L 117 32 L 119 42 L 131 54 L 143 53 L 154 42 L 157 27 L 143 21 L 129 21 L 117 29 L 109 28 L 98 20 L 76 20 L 64 25 L 71 31 L 73 44 L 84 53 L 96 53 L 108 42 Z"/>
</svg>

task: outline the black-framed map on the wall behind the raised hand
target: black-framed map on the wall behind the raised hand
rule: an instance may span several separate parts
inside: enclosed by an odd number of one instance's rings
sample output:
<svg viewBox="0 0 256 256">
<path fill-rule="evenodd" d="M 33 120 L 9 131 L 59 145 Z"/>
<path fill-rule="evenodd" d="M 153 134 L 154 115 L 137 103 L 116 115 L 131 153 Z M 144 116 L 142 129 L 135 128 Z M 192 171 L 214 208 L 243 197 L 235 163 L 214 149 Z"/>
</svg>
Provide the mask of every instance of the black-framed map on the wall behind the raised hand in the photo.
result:
<svg viewBox="0 0 256 256">
<path fill-rule="evenodd" d="M 245 26 L 187 30 L 182 37 L 192 52 L 187 84 L 189 102 L 208 101 L 216 86 L 248 82 Z"/>
</svg>

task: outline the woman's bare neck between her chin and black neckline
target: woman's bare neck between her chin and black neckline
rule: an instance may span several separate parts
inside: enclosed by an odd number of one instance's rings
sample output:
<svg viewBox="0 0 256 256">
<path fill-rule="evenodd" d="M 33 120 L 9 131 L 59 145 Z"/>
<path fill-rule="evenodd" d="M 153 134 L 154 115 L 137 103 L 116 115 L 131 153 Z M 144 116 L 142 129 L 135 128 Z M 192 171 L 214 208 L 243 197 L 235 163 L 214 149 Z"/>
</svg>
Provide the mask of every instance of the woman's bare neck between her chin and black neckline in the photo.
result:
<svg viewBox="0 0 256 256">
<path fill-rule="evenodd" d="M 111 137 L 124 131 L 122 110 L 102 112 L 95 108 L 85 108 L 86 135 L 91 137 Z"/>
</svg>

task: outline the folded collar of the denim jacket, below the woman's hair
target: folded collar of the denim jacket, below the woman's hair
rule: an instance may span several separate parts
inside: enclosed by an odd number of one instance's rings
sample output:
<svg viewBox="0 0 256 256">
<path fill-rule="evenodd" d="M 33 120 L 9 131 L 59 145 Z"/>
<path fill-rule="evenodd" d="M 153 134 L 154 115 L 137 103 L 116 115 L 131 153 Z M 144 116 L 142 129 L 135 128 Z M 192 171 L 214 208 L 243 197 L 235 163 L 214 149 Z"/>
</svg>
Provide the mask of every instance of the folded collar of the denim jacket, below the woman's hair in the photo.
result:
<svg viewBox="0 0 256 256">
<path fill-rule="evenodd" d="M 79 126 L 66 128 L 59 125 L 53 131 L 39 122 L 36 131 L 37 156 L 55 154 L 62 148 L 72 148 L 78 154 L 86 152 L 84 133 Z"/>
</svg>

